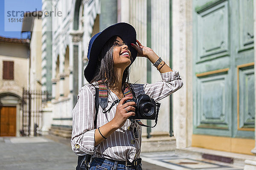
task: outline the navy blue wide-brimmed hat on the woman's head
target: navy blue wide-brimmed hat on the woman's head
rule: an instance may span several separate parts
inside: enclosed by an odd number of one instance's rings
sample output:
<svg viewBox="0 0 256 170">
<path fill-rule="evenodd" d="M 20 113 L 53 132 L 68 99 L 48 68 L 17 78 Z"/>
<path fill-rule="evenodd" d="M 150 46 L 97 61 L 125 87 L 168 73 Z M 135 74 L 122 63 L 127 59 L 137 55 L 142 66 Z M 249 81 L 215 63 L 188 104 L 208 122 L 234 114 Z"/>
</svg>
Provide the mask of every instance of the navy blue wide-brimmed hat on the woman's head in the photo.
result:
<svg viewBox="0 0 256 170">
<path fill-rule="evenodd" d="M 137 57 L 137 50 L 131 46 L 131 43 L 136 44 L 136 31 L 133 26 L 128 23 L 116 23 L 108 28 L 105 28 L 102 32 L 95 34 L 89 42 L 88 47 L 88 63 L 84 69 L 84 77 L 90 82 L 96 71 L 96 64 L 98 61 L 99 53 L 105 43 L 113 36 L 120 37 L 131 51 L 131 57 L 133 61 Z M 132 62 L 133 62 L 132 61 Z"/>
</svg>

